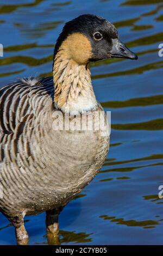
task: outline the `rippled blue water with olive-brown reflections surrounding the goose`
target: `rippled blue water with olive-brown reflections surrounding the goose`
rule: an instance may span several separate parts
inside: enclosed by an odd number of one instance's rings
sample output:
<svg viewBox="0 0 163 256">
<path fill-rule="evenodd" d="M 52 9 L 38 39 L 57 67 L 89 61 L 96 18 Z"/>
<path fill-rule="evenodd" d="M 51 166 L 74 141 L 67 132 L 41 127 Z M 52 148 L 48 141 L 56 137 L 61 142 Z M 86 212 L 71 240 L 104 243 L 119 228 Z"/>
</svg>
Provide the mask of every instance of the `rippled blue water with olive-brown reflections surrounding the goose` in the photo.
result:
<svg viewBox="0 0 163 256">
<path fill-rule="evenodd" d="M 97 99 L 111 111 L 111 147 L 101 172 L 60 215 L 62 245 L 163 244 L 162 0 L 1 0 L 0 86 L 18 77 L 51 75 L 62 26 L 92 13 L 115 23 L 137 61 L 92 64 Z M 16 243 L 0 215 L 0 244 Z M 26 217 L 30 245 L 46 244 L 45 214 Z"/>
</svg>

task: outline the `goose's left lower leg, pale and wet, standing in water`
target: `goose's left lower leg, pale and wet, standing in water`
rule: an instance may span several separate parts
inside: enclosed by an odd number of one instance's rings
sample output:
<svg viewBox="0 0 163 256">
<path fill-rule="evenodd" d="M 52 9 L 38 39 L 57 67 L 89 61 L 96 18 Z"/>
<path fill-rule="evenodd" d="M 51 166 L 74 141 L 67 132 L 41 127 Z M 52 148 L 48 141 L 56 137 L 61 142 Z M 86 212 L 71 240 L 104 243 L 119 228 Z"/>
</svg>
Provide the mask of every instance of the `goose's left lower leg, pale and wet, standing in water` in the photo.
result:
<svg viewBox="0 0 163 256">
<path fill-rule="evenodd" d="M 17 245 L 28 245 L 29 236 L 24 227 L 24 224 L 22 224 L 20 227 L 15 227 L 15 233 Z"/>
</svg>

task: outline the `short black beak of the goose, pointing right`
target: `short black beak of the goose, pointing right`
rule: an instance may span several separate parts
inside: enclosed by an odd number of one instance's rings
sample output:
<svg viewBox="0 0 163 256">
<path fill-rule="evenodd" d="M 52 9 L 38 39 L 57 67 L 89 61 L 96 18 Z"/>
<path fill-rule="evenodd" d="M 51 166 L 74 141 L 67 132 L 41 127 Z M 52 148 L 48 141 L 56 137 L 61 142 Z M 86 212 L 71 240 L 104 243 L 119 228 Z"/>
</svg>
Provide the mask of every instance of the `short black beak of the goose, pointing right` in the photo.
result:
<svg viewBox="0 0 163 256">
<path fill-rule="evenodd" d="M 126 45 L 119 39 L 112 39 L 112 49 L 110 51 L 112 58 L 137 59 L 137 55 L 131 52 Z"/>
</svg>

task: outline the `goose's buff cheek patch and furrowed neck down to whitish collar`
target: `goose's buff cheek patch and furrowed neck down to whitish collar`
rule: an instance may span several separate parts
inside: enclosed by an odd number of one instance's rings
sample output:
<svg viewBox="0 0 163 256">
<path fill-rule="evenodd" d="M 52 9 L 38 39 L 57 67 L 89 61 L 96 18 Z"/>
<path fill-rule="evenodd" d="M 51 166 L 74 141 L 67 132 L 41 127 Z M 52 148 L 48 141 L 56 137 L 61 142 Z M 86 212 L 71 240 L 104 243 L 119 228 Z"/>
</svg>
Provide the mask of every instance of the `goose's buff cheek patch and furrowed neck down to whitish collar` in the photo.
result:
<svg viewBox="0 0 163 256">
<path fill-rule="evenodd" d="M 54 103 L 63 112 L 79 114 L 95 109 L 97 101 L 87 67 L 89 40 L 82 34 L 68 36 L 54 56 Z"/>
</svg>

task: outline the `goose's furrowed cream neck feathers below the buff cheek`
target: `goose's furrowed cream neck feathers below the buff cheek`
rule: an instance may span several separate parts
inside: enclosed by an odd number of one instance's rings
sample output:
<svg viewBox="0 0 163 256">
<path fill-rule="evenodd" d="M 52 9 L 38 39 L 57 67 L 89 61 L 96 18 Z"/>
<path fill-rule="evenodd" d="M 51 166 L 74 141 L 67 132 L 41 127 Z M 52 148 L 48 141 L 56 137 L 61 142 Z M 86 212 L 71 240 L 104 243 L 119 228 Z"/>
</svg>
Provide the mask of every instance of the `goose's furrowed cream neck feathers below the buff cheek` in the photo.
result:
<svg viewBox="0 0 163 256">
<path fill-rule="evenodd" d="M 53 80 L 54 103 L 63 112 L 79 114 L 96 108 L 90 70 L 73 60 L 64 47 L 54 57 Z"/>
</svg>

